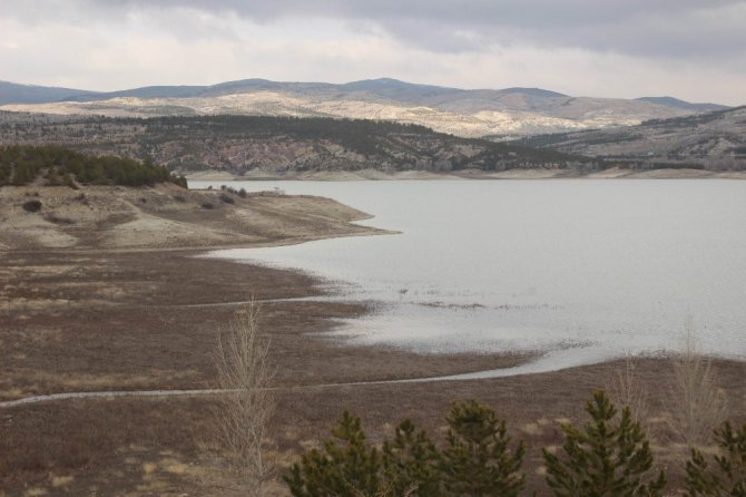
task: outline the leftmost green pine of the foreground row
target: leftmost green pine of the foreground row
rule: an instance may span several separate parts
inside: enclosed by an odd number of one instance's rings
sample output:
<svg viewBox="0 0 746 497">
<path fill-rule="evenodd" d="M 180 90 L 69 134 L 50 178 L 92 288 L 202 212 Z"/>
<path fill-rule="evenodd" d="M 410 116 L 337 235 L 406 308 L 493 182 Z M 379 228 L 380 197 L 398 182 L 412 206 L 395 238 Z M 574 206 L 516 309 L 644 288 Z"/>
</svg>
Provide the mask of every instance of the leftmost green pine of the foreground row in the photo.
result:
<svg viewBox="0 0 746 497">
<path fill-rule="evenodd" d="M 374 497 L 381 493 L 381 456 L 365 442 L 360 418 L 344 411 L 336 428 L 336 440 L 313 449 L 301 464 L 291 467 L 283 479 L 294 497 Z"/>
</svg>

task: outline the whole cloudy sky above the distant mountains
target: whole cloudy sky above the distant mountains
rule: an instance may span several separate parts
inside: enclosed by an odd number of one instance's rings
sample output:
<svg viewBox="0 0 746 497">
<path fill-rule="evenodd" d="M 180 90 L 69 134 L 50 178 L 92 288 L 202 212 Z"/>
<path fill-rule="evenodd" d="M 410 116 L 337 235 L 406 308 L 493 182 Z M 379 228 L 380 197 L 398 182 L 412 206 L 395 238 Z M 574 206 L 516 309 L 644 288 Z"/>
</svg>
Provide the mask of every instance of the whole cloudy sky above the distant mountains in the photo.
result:
<svg viewBox="0 0 746 497">
<path fill-rule="evenodd" d="M 746 104 L 746 0 L 2 0 L 0 80 L 391 77 Z"/>
</svg>

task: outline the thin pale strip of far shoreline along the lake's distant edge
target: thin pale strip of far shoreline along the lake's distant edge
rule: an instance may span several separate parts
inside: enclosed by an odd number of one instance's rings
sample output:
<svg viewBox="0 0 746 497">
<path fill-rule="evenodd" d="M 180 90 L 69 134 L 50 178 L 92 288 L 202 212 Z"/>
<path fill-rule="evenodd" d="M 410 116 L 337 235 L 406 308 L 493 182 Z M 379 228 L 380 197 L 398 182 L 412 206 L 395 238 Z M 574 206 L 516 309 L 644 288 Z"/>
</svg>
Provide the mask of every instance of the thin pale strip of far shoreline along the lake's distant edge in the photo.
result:
<svg viewBox="0 0 746 497">
<path fill-rule="evenodd" d="M 590 174 L 581 174 L 570 169 L 508 169 L 484 172 L 479 169 L 461 169 L 449 173 L 429 170 L 400 170 L 384 173 L 376 169 L 360 170 L 316 170 L 302 173 L 274 173 L 252 169 L 246 174 L 236 175 L 225 170 L 199 170 L 186 175 L 195 182 L 229 182 L 229 181 L 317 181 L 317 182 L 354 182 L 354 181 L 395 181 L 395 179 L 746 179 L 746 172 L 713 172 L 703 169 L 649 169 L 634 170 L 611 167 Z"/>
</svg>

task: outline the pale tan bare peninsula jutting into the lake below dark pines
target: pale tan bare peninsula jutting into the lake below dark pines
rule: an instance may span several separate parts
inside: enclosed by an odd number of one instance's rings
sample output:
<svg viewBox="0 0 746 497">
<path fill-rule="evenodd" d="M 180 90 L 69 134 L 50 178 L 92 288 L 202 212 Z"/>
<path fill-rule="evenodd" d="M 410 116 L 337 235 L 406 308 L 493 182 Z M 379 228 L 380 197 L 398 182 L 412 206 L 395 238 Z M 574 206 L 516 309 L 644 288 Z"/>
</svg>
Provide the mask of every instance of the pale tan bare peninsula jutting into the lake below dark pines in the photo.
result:
<svg viewBox="0 0 746 497">
<path fill-rule="evenodd" d="M 38 212 L 23 207 L 39 202 Z M 3 250 L 276 245 L 385 233 L 330 198 L 186 191 L 175 185 L 0 188 Z"/>
</svg>

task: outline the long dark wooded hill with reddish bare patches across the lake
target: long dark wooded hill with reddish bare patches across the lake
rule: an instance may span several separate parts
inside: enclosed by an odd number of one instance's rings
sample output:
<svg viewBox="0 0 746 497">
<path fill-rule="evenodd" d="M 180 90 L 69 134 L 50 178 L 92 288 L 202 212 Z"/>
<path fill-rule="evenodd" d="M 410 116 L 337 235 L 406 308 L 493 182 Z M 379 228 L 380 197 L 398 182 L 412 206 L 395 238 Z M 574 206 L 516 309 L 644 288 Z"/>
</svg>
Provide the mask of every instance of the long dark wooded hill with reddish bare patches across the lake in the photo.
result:
<svg viewBox="0 0 746 497">
<path fill-rule="evenodd" d="M 550 149 L 460 138 L 390 121 L 269 116 L 73 117 L 0 113 L 0 144 L 55 144 L 173 170 L 595 168 Z"/>
</svg>

